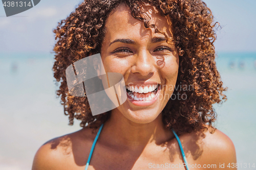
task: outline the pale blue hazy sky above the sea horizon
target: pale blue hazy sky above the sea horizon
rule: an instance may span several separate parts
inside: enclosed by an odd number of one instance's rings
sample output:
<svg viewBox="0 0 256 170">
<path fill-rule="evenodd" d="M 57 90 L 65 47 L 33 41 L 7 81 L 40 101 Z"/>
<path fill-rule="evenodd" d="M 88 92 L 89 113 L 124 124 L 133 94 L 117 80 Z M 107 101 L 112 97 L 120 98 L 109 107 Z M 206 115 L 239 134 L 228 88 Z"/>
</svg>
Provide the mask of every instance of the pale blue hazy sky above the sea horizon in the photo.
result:
<svg viewBox="0 0 256 170">
<path fill-rule="evenodd" d="M 0 54 L 52 52 L 57 23 L 81 0 L 41 0 L 35 7 L 6 17 L 0 6 Z M 217 31 L 217 52 L 256 52 L 256 1 L 205 0 L 222 29 Z M 1 56 L 0 56 L 1 57 Z"/>
</svg>

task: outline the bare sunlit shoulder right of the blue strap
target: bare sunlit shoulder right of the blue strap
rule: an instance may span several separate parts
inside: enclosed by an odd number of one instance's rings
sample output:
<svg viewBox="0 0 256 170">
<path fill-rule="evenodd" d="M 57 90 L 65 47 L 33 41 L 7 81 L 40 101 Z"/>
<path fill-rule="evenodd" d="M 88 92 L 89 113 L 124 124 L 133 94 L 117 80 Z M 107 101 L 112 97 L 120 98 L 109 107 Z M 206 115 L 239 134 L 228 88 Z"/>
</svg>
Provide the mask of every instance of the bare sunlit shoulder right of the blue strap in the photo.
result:
<svg viewBox="0 0 256 170">
<path fill-rule="evenodd" d="M 187 155 L 194 163 L 236 163 L 236 150 L 231 139 L 220 130 L 206 126 L 208 130 L 191 132 L 183 137 Z M 214 133 L 212 133 L 214 132 Z"/>
</svg>

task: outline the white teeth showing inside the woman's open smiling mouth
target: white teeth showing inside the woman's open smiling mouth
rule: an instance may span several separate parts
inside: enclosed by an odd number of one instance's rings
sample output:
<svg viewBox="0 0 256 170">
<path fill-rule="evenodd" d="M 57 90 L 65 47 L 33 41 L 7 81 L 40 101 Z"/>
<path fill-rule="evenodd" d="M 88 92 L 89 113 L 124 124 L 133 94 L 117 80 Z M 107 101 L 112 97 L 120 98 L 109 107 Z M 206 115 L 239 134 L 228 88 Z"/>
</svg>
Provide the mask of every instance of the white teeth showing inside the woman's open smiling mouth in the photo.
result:
<svg viewBox="0 0 256 170">
<path fill-rule="evenodd" d="M 153 101 L 159 89 L 160 85 L 126 86 L 127 96 L 133 101 Z"/>
</svg>

